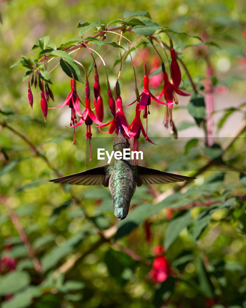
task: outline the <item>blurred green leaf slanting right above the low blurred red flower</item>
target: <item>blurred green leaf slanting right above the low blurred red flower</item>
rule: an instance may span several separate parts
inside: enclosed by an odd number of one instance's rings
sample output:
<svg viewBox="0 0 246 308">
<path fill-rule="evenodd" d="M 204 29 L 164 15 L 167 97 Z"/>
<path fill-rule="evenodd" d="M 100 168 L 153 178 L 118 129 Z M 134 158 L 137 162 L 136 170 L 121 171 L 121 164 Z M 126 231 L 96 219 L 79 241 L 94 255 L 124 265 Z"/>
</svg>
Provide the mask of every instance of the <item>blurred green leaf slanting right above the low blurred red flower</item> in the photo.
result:
<svg viewBox="0 0 246 308">
<path fill-rule="evenodd" d="M 190 221 L 190 211 L 182 211 L 172 221 L 169 222 L 164 240 L 165 250 L 167 250 L 176 240 L 179 233 L 190 224 Z"/>
</svg>

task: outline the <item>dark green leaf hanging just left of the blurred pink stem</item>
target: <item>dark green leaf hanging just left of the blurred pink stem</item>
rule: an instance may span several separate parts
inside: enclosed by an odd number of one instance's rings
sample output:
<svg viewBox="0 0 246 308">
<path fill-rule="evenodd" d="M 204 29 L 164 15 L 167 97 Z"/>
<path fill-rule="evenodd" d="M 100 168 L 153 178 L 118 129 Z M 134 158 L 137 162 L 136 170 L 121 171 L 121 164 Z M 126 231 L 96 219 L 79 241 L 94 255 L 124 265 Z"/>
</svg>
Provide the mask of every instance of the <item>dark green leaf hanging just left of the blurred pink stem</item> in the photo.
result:
<svg viewBox="0 0 246 308">
<path fill-rule="evenodd" d="M 204 97 L 202 95 L 192 95 L 187 109 L 189 114 L 193 116 L 193 118 L 196 120 L 197 125 L 199 126 L 206 116 Z"/>
</svg>

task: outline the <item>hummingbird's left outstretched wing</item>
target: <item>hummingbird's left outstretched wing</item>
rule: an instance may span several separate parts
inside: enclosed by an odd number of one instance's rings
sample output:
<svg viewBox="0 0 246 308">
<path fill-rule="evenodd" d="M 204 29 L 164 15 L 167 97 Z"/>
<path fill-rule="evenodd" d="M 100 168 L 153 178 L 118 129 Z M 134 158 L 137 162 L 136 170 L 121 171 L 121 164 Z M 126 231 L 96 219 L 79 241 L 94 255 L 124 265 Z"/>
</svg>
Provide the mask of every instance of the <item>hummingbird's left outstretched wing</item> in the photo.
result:
<svg viewBox="0 0 246 308">
<path fill-rule="evenodd" d="M 50 182 L 60 184 L 75 184 L 75 185 L 100 185 L 109 186 L 109 165 L 92 168 L 83 172 L 74 173 L 68 176 L 58 177 L 50 180 Z"/>
</svg>

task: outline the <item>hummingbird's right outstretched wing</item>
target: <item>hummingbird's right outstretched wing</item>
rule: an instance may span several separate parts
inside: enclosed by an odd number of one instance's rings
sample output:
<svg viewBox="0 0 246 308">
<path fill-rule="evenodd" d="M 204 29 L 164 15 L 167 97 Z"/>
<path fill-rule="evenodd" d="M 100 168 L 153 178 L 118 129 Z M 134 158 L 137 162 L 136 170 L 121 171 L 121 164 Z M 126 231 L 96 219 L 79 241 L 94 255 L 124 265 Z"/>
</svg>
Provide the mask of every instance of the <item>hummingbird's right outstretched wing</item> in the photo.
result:
<svg viewBox="0 0 246 308">
<path fill-rule="evenodd" d="M 165 184 L 193 180 L 195 177 L 183 176 L 174 173 L 164 172 L 157 169 L 135 166 L 137 168 L 135 179 L 137 187 L 142 184 Z"/>
</svg>

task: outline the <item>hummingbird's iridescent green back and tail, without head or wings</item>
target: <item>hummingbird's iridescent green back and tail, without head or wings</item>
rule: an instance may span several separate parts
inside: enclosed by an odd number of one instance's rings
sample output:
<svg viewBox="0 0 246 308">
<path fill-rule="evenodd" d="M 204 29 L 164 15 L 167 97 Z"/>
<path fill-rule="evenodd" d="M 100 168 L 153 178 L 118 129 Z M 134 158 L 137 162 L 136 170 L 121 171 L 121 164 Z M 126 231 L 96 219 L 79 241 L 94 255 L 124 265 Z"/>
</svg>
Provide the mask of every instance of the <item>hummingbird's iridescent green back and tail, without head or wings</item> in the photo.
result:
<svg viewBox="0 0 246 308">
<path fill-rule="evenodd" d="M 128 214 L 130 201 L 136 190 L 133 170 L 126 161 L 115 162 L 109 178 L 109 190 L 113 199 L 113 213 L 117 219 L 122 220 Z"/>
</svg>

